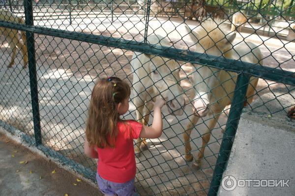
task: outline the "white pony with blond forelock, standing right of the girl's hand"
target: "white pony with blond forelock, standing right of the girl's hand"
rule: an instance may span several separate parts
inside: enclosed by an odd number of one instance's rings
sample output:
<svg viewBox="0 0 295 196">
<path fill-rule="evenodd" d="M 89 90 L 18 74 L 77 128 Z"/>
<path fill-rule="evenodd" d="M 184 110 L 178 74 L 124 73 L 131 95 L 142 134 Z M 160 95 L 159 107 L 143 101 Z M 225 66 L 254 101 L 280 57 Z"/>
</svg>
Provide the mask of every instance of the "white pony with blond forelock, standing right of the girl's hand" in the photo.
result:
<svg viewBox="0 0 295 196">
<path fill-rule="evenodd" d="M 241 60 L 253 64 L 263 63 L 262 53 L 255 44 L 241 42 L 232 47 L 236 33 L 224 33 L 219 27 L 212 21 L 202 23 L 202 26 L 199 26 L 196 32 L 186 27 L 191 39 L 196 43 L 190 50 L 214 56 L 223 55 L 227 59 Z M 190 153 L 191 145 L 189 143 L 191 131 L 199 118 L 205 117 L 208 114 L 213 116 L 207 123 L 207 130 L 202 135 L 202 147 L 199 149 L 196 162 L 193 163 L 193 169 L 198 170 L 201 166 L 201 160 L 204 157 L 205 147 L 210 140 L 211 130 L 215 127 L 223 109 L 231 104 L 237 74 L 202 65 L 195 64 L 194 66 L 197 70 L 193 74 L 193 83 L 196 89 L 196 95 L 192 102 L 194 105 L 194 115 L 190 117 L 191 123 L 187 126 L 186 132 L 183 134 L 186 161 L 193 161 L 193 155 Z M 257 83 L 258 78 L 250 78 L 247 101 L 245 103 L 250 104 L 252 102 Z"/>
</svg>

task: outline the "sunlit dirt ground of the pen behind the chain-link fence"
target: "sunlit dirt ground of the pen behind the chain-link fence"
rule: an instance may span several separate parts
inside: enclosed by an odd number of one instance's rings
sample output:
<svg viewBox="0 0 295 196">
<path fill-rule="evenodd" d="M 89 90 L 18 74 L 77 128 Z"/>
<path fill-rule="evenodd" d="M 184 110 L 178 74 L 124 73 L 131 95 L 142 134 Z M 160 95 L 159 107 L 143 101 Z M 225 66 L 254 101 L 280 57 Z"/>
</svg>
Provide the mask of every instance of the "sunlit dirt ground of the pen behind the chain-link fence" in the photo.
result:
<svg viewBox="0 0 295 196">
<path fill-rule="evenodd" d="M 131 21 L 115 21 L 110 25 L 108 21 L 85 25 L 77 22 L 76 31 L 83 29 L 85 33 L 101 33 L 125 39 L 140 39 L 142 36 L 141 24 Z M 168 33 L 168 37 L 175 43 L 176 48 L 185 48 L 189 43 L 185 32 L 180 25 L 181 20 L 175 19 L 167 22 L 164 19 L 151 21 L 149 33 Z M 57 27 L 56 22 L 53 27 Z M 95 26 L 96 30 L 92 29 Z M 108 26 L 109 25 L 109 26 Z M 131 28 L 131 26 L 133 27 Z M 193 28 L 196 23 L 189 21 Z M 118 28 L 118 26 L 122 26 Z M 139 27 L 140 26 L 140 27 Z M 102 29 L 107 28 L 108 31 Z M 59 28 L 63 28 L 60 26 Z M 177 29 L 177 32 L 170 31 Z M 123 34 L 123 35 L 122 35 Z M 138 35 L 138 36 L 137 36 Z M 182 37 L 183 36 L 183 37 Z M 181 40 L 179 39 L 181 37 Z M 1 37 L 3 41 L 3 37 Z M 265 57 L 264 65 L 295 71 L 295 43 L 286 42 L 266 36 L 238 33 L 236 41 L 243 38 L 260 45 Z M 124 78 L 131 84 L 132 72 L 130 60 L 132 51 L 110 48 L 86 42 L 61 39 L 46 35 L 35 35 L 36 65 L 39 89 L 39 107 L 42 127 L 43 144 L 58 151 L 66 157 L 95 170 L 95 161 L 83 155 L 84 127 L 87 117 L 89 95 L 98 77 L 116 75 Z M 32 114 L 30 112 L 29 73 L 28 69 L 21 68 L 21 57 L 13 68 L 7 69 L 11 50 L 7 42 L 0 45 L 0 118 L 19 130 L 33 135 Z M 181 86 L 184 90 L 191 88 L 191 73 L 194 67 L 190 64 L 178 62 Z M 260 79 L 257 87 L 258 96 L 272 91 L 274 98 L 280 96 L 294 87 L 272 83 Z M 186 91 L 192 98 L 194 92 Z M 135 118 L 135 107 L 130 104 L 129 112 L 125 118 Z M 285 108 L 281 108 L 284 110 Z M 227 111 L 228 112 L 228 111 Z M 221 127 L 226 124 L 227 113 L 220 117 L 218 124 L 212 131 L 212 137 L 205 151 L 205 159 L 200 171 L 193 171 L 191 163 L 186 163 L 182 133 L 189 123 L 192 110 L 185 108 L 182 116 L 168 115 L 164 109 L 164 134 L 158 139 L 148 140 L 148 150 L 137 155 L 137 188 L 141 195 L 206 195 L 212 177 L 214 165 L 221 143 Z M 152 118 L 149 122 L 151 122 Z M 196 157 L 202 142 L 202 134 L 206 128 L 208 118 L 200 119 L 191 135 L 192 154 Z"/>
</svg>

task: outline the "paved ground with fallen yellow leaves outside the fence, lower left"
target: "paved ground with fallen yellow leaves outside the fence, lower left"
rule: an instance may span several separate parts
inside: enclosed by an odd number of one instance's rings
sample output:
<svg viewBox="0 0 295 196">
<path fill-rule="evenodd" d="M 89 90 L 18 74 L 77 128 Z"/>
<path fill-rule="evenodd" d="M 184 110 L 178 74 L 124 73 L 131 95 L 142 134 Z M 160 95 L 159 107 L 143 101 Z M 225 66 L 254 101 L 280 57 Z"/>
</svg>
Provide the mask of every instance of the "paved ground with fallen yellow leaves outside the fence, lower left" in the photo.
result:
<svg viewBox="0 0 295 196">
<path fill-rule="evenodd" d="M 1 133 L 0 157 L 0 196 L 100 195 L 98 188 Z"/>
</svg>

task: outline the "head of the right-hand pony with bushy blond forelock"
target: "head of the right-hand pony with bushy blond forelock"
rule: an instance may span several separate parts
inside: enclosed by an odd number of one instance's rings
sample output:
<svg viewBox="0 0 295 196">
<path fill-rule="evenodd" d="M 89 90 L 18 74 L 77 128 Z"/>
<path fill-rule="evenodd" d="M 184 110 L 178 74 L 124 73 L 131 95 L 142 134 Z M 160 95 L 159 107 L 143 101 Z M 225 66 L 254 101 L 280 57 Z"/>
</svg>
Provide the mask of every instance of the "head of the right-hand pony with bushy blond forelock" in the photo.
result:
<svg viewBox="0 0 295 196">
<path fill-rule="evenodd" d="M 236 33 L 228 34 L 220 30 L 220 25 L 214 21 L 202 23 L 192 31 L 185 26 L 194 45 L 189 49 L 191 51 L 205 53 L 214 56 L 225 56 L 226 52 L 232 48 L 232 42 L 236 38 Z M 202 65 L 195 65 L 197 71 L 193 75 L 196 85 L 196 96 L 193 100 L 193 112 L 195 116 L 204 117 L 209 112 L 209 103 L 211 98 L 210 90 L 218 82 L 219 71 Z"/>
</svg>

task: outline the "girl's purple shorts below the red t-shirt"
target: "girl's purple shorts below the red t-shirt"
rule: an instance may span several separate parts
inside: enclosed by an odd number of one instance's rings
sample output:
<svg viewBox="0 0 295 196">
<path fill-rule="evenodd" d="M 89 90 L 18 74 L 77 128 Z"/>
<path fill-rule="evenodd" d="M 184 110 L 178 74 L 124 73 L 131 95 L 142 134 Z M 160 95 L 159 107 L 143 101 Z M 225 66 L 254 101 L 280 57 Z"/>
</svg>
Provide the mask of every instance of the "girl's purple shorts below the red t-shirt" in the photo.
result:
<svg viewBox="0 0 295 196">
<path fill-rule="evenodd" d="M 96 173 L 96 180 L 100 191 L 105 196 L 136 196 L 134 187 L 134 178 L 125 183 L 116 183 L 105 180 Z"/>
</svg>

